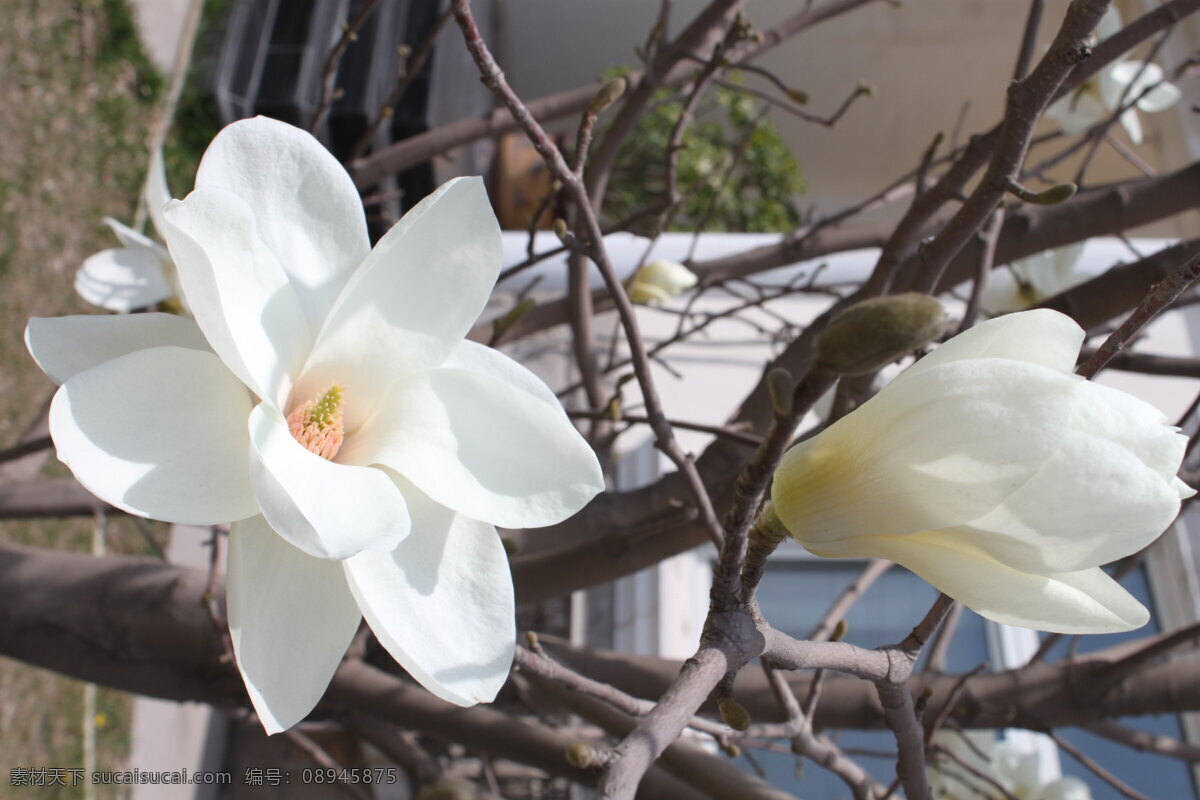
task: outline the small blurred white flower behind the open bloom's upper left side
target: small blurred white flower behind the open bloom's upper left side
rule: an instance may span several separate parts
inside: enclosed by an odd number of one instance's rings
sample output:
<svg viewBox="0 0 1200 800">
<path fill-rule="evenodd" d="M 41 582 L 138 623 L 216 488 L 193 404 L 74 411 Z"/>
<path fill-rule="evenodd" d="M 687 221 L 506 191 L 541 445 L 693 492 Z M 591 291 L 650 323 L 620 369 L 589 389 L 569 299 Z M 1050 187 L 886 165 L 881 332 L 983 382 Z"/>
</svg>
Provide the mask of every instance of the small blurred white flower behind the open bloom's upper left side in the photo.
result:
<svg viewBox="0 0 1200 800">
<path fill-rule="evenodd" d="M 162 209 L 170 199 L 170 191 L 160 150 L 150 155 L 150 169 L 142 191 L 150 221 L 162 236 Z M 116 234 L 121 246 L 84 260 L 74 282 L 80 297 L 108 311 L 130 312 L 179 296 L 175 264 L 166 247 L 112 217 L 106 217 L 104 223 Z"/>
</svg>

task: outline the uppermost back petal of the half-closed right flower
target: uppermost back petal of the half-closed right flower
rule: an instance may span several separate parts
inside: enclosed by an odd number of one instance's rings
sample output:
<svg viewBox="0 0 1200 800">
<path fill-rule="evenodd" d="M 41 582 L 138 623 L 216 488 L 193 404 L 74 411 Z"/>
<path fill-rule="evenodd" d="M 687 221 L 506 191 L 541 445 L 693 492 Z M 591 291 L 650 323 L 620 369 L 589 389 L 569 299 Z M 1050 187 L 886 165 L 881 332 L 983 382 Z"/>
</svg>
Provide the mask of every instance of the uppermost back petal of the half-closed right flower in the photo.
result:
<svg viewBox="0 0 1200 800">
<path fill-rule="evenodd" d="M 1066 314 L 1049 308 L 1008 314 L 959 333 L 908 367 L 888 389 L 938 365 L 964 359 L 1012 359 L 1069 373 L 1075 369 L 1082 344 L 1084 329 Z"/>
</svg>

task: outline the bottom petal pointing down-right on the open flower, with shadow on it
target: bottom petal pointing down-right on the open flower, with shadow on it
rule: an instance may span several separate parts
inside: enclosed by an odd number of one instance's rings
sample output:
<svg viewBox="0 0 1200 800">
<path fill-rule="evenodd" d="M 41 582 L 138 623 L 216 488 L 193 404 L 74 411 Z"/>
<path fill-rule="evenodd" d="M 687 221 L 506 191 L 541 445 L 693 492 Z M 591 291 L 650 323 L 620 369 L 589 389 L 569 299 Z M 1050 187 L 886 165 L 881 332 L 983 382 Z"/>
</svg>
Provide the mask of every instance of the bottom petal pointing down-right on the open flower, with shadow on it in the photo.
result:
<svg viewBox="0 0 1200 800">
<path fill-rule="evenodd" d="M 457 705 L 488 703 L 508 679 L 516 639 L 512 577 L 496 529 L 455 515 L 412 486 L 413 535 L 391 553 L 347 559 L 362 615 L 425 688 Z"/>
</svg>

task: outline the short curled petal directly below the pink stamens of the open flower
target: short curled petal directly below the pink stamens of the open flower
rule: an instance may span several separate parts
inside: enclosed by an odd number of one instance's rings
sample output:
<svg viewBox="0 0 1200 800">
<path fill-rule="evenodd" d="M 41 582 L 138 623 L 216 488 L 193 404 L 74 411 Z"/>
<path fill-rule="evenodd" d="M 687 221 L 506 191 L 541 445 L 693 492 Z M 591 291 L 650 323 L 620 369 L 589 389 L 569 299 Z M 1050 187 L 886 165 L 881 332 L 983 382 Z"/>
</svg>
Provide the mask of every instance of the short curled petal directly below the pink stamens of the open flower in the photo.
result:
<svg viewBox="0 0 1200 800">
<path fill-rule="evenodd" d="M 263 515 L 310 555 L 344 559 L 390 551 L 409 531 L 408 509 L 386 473 L 326 461 L 292 438 L 266 403 L 250 415 L 250 475 Z"/>
</svg>

